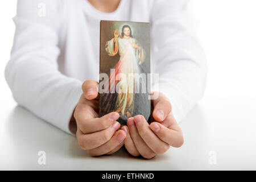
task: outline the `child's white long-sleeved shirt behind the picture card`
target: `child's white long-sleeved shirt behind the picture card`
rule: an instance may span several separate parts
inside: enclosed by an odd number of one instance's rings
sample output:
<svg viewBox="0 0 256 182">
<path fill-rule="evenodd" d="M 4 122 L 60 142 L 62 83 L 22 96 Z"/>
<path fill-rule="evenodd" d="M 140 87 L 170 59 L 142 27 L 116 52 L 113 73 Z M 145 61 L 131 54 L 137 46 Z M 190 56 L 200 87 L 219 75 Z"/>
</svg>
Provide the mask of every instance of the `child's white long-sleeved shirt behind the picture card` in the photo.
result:
<svg viewBox="0 0 256 182">
<path fill-rule="evenodd" d="M 61 130 L 82 94 L 98 81 L 100 20 L 151 23 L 151 72 L 180 122 L 199 101 L 207 67 L 187 0 L 121 0 L 102 13 L 86 0 L 22 0 L 5 77 L 16 102 Z"/>
</svg>

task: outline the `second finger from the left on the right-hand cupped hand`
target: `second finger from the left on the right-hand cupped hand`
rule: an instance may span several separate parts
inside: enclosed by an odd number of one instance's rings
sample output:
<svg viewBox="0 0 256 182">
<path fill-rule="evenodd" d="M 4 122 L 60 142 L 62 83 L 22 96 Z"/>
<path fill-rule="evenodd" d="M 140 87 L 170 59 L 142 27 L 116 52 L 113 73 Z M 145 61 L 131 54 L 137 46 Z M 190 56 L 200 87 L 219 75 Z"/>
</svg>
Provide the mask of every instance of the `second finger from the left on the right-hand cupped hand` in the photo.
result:
<svg viewBox="0 0 256 182">
<path fill-rule="evenodd" d="M 133 142 L 139 152 L 144 158 L 151 159 L 155 156 L 155 152 L 151 150 L 147 146 L 147 144 L 144 142 L 144 140 L 141 138 L 141 136 L 138 133 L 137 127 L 134 123 L 134 118 L 129 118 L 127 120 L 127 125 L 130 131 L 131 139 L 133 139 Z"/>
</svg>

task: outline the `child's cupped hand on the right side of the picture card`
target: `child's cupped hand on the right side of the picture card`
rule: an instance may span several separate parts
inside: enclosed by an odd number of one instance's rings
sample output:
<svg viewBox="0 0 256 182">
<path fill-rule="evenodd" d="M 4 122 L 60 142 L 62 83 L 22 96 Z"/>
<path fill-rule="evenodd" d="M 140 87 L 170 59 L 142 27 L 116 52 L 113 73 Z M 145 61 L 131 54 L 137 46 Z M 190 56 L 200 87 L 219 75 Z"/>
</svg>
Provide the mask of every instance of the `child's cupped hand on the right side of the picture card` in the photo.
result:
<svg viewBox="0 0 256 182">
<path fill-rule="evenodd" d="M 183 134 L 171 112 L 171 104 L 162 93 L 156 100 L 152 100 L 154 121 L 147 123 L 142 115 L 129 118 L 126 131 L 125 147 L 134 156 L 153 158 L 156 154 L 163 154 L 170 146 L 180 147 L 183 144 Z"/>
</svg>

